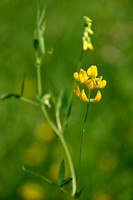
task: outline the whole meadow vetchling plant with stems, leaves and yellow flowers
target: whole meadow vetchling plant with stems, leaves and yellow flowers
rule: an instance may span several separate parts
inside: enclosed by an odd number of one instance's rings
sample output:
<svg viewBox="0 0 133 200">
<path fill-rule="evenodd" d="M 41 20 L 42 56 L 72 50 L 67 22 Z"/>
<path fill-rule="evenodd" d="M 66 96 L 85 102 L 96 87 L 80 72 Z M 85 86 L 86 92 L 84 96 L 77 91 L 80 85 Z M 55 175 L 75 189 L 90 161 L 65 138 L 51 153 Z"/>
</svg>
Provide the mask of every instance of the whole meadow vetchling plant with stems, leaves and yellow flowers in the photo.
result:
<svg viewBox="0 0 133 200">
<path fill-rule="evenodd" d="M 74 87 L 72 87 L 72 91 L 70 93 L 70 97 L 69 97 L 69 100 L 68 100 L 68 103 L 67 103 L 67 108 L 65 110 L 64 118 L 63 118 L 63 121 L 62 121 L 62 117 L 61 117 L 61 106 L 63 104 L 62 93 L 59 94 L 59 98 L 55 101 L 55 118 L 56 118 L 56 121 L 54 122 L 50 118 L 47 109 L 49 109 L 49 110 L 52 109 L 51 104 L 50 104 L 51 94 L 47 93 L 47 94 L 43 95 L 42 81 L 41 81 L 41 65 L 42 65 L 43 57 L 44 57 L 45 52 L 46 52 L 45 43 L 44 43 L 44 32 L 45 32 L 45 29 L 46 29 L 44 17 L 45 17 L 45 9 L 43 9 L 42 12 L 40 12 L 40 9 L 39 9 L 38 13 L 37 13 L 37 25 L 36 25 L 36 29 L 35 29 L 35 32 L 34 32 L 35 66 L 36 66 L 36 72 L 37 72 L 37 87 L 38 87 L 38 91 L 37 91 L 37 95 L 36 95 L 36 101 L 25 98 L 23 96 L 24 80 L 22 82 L 20 94 L 11 93 L 11 94 L 2 95 L 1 100 L 5 100 L 5 99 L 11 98 L 11 97 L 15 97 L 15 98 L 17 98 L 21 101 L 32 104 L 33 106 L 36 106 L 38 108 L 41 108 L 45 119 L 48 121 L 49 125 L 53 129 L 56 136 L 59 138 L 59 140 L 60 140 L 60 142 L 61 142 L 61 144 L 64 148 L 64 151 L 65 151 L 66 156 L 67 156 L 68 164 L 69 164 L 69 170 L 70 170 L 71 177 L 64 179 L 64 176 L 65 176 L 65 161 L 64 160 L 62 160 L 60 167 L 59 167 L 58 183 L 54 183 L 53 181 L 49 180 L 46 177 L 42 177 L 41 175 L 38 175 L 38 174 L 28 170 L 28 169 L 25 169 L 24 166 L 23 166 L 23 169 L 27 172 L 30 172 L 30 173 L 35 174 L 37 176 L 40 176 L 41 178 L 43 178 L 48 183 L 55 185 L 56 187 L 58 187 L 59 189 L 61 189 L 62 191 L 64 191 L 68 195 L 70 195 L 72 198 L 78 198 L 83 191 L 83 188 L 81 188 L 79 190 L 77 189 L 77 180 L 78 180 L 79 170 L 80 170 L 83 135 L 84 135 L 84 130 L 85 130 L 84 128 L 85 128 L 85 123 L 86 123 L 87 115 L 88 115 L 88 107 L 89 107 L 90 102 L 99 102 L 100 99 L 102 98 L 100 90 L 97 91 L 96 96 L 94 98 L 91 98 L 91 90 L 102 89 L 106 86 L 107 82 L 106 82 L 106 80 L 103 80 L 102 76 L 97 77 L 98 76 L 98 70 L 97 70 L 97 67 L 95 65 L 91 65 L 87 69 L 87 71 L 80 68 L 84 51 L 94 50 L 94 47 L 91 43 L 91 38 L 90 38 L 90 35 L 93 34 L 93 31 L 91 29 L 92 20 L 89 17 L 84 16 L 83 17 L 83 19 L 84 19 L 84 33 L 83 33 L 83 37 L 82 37 L 83 46 L 82 46 L 82 51 L 81 51 L 79 63 L 77 65 L 77 71 L 79 71 L 79 72 L 74 73 L 74 79 L 75 79 L 74 84 L 73 84 Z M 79 82 L 79 84 L 82 84 L 84 86 L 84 89 L 80 90 L 80 86 L 78 84 L 75 85 L 76 81 Z M 70 110 L 71 110 L 71 105 L 72 105 L 73 91 L 74 91 L 74 94 L 77 97 L 79 97 L 82 101 L 87 103 L 87 109 L 86 109 L 83 129 L 82 129 L 82 139 L 81 139 L 81 145 L 80 145 L 79 166 L 78 166 L 77 177 L 76 177 L 76 174 L 75 174 L 75 169 L 74 169 L 72 157 L 70 155 L 70 152 L 69 152 L 69 149 L 68 149 L 67 143 L 65 141 L 65 137 L 64 137 L 64 132 L 66 130 L 65 129 L 66 125 L 68 124 L 68 118 L 69 118 L 69 115 L 70 115 Z M 65 190 L 64 186 L 67 185 L 67 184 L 70 184 L 70 183 L 72 185 L 72 190 L 71 191 Z"/>
</svg>

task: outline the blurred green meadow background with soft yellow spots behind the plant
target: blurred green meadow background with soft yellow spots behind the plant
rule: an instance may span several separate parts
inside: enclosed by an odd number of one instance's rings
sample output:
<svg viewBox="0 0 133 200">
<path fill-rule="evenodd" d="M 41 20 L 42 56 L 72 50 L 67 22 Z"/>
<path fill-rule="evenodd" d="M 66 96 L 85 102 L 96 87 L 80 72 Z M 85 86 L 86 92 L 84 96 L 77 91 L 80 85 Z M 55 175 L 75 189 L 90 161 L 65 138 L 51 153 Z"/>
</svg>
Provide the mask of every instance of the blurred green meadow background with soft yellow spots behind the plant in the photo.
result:
<svg viewBox="0 0 133 200">
<path fill-rule="evenodd" d="M 41 1 L 41 6 L 45 1 Z M 48 0 L 43 92 L 68 92 L 81 51 L 83 16 L 93 20 L 92 43 L 82 67 L 98 66 L 107 80 L 102 100 L 91 104 L 83 146 L 80 186 L 84 200 L 133 199 L 133 2 L 132 0 Z M 0 95 L 19 92 L 26 72 L 24 96 L 34 98 L 36 69 L 33 31 L 36 2 L 0 1 Z M 86 105 L 74 97 L 66 131 L 75 168 Z M 42 179 L 22 171 L 24 163 L 57 180 L 65 158 L 62 147 L 37 108 L 18 100 L 0 102 L 0 199 L 69 199 Z M 69 175 L 69 171 L 67 170 Z"/>
</svg>

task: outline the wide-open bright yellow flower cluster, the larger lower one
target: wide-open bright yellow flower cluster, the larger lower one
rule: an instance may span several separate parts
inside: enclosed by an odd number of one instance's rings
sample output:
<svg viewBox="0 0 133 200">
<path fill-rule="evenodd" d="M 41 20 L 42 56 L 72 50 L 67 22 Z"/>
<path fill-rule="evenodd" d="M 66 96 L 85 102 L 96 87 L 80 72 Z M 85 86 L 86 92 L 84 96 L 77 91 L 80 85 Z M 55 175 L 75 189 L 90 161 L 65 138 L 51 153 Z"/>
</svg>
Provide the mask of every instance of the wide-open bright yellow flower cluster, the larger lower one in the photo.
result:
<svg viewBox="0 0 133 200">
<path fill-rule="evenodd" d="M 100 76 L 99 78 L 96 78 L 98 75 L 97 67 L 95 65 L 91 65 L 87 71 L 80 69 L 79 73 L 74 73 L 74 79 L 76 81 L 79 81 L 82 84 L 85 84 L 89 90 L 92 89 L 102 89 L 106 86 L 107 81 L 103 80 L 103 77 Z M 90 101 L 90 102 L 99 102 L 102 98 L 100 90 L 97 91 L 97 94 L 94 99 L 89 99 L 85 93 L 85 90 L 83 89 L 80 91 L 79 86 L 75 85 L 74 87 L 74 94 L 78 96 L 82 101 Z"/>
</svg>

